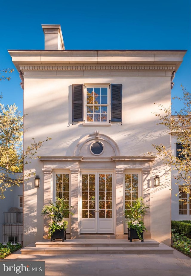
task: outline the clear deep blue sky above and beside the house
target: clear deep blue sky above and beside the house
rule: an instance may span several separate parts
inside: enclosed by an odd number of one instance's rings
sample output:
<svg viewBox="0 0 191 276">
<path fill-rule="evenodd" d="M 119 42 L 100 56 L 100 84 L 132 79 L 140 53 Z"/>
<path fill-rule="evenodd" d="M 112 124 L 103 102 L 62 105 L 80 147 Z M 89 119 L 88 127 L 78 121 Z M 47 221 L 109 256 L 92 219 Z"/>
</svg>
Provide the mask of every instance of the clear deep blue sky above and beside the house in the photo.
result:
<svg viewBox="0 0 191 276">
<path fill-rule="evenodd" d="M 0 69 L 14 68 L 7 49 L 43 50 L 41 24 L 61 24 L 66 50 L 188 50 L 172 96 L 181 95 L 181 84 L 191 92 L 190 6 L 190 0 L 10 0 L 1 4 Z M 22 111 L 19 73 L 10 76 L 0 83 L 1 103 Z"/>
</svg>

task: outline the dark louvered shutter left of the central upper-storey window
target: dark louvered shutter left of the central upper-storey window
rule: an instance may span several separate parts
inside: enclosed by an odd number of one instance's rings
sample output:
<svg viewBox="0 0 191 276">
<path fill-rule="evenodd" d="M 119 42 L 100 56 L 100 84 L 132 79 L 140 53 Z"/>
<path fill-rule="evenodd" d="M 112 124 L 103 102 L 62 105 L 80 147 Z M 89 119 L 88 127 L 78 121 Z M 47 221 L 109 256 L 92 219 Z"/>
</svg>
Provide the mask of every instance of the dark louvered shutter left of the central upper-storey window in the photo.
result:
<svg viewBox="0 0 191 276">
<path fill-rule="evenodd" d="M 84 120 L 83 84 L 72 85 L 72 122 Z"/>
</svg>

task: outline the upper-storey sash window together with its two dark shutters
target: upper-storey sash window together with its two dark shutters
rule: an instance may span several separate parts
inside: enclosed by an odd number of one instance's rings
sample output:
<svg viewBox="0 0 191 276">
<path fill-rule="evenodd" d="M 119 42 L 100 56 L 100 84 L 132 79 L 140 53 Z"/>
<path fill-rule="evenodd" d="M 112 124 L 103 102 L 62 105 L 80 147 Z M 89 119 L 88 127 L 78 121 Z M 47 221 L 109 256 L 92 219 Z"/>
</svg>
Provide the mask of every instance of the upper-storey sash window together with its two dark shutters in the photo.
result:
<svg viewBox="0 0 191 276">
<path fill-rule="evenodd" d="M 82 121 L 122 122 L 122 85 L 72 85 L 72 122 Z"/>
</svg>

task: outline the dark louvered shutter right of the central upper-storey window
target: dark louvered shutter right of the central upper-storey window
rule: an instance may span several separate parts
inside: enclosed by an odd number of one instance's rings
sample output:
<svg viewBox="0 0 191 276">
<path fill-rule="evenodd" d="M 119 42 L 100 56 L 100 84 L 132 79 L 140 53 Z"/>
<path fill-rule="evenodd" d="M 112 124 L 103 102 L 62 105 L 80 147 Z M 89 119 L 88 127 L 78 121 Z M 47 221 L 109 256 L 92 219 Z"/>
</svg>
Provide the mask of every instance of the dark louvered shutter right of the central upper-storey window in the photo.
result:
<svg viewBox="0 0 191 276">
<path fill-rule="evenodd" d="M 111 84 L 111 122 L 122 122 L 122 84 Z"/>
</svg>

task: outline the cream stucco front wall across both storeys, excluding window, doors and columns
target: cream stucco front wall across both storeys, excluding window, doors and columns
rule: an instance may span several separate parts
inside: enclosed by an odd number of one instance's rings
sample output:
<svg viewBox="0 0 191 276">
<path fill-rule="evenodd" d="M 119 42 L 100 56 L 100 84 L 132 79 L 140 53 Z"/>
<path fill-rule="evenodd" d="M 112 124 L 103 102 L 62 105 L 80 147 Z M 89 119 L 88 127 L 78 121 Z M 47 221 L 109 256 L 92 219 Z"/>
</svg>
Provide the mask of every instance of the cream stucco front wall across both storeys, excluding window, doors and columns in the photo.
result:
<svg viewBox="0 0 191 276">
<path fill-rule="evenodd" d="M 35 73 L 38 75 L 37 73 Z M 110 126 L 88 126 L 83 122 L 72 125 L 72 84 L 78 83 L 118 83 L 123 89 L 123 122 L 112 123 Z M 62 77 L 56 78 L 48 74 L 41 77 L 26 76 L 24 78 L 24 125 L 27 131 L 24 134 L 24 146 L 30 144 L 33 137 L 42 141 L 46 137 L 52 139 L 44 142 L 38 149 L 38 156 L 73 156 L 76 147 L 83 137 L 99 134 L 110 137 L 118 146 L 121 156 L 144 156 L 152 151 L 152 143 L 163 143 L 170 147 L 170 137 L 167 131 L 157 126 L 154 112 L 159 112 L 158 105 L 168 106 L 170 103 L 170 77 L 169 76 L 94 76 L 94 77 Z M 109 149 L 108 149 L 109 151 Z M 105 156 L 115 156 L 111 150 Z M 79 156 L 90 156 L 90 153 L 79 152 Z M 104 157 L 104 155 L 102 156 Z M 95 157 L 96 158 L 96 157 Z M 59 163 L 59 165 L 58 165 Z M 25 166 L 41 178 L 41 186 L 34 188 L 34 177 L 24 184 L 24 243 L 39 240 L 43 237 L 43 205 L 52 198 L 53 183 L 51 168 L 76 168 L 74 163 L 57 162 L 51 165 L 39 159 L 31 160 Z M 103 163 L 107 168 L 114 168 L 113 162 Z M 97 168 L 103 166 L 98 163 Z M 130 165 L 116 162 L 116 168 L 130 169 Z M 80 164 L 81 168 L 87 165 Z M 92 168 L 95 168 L 95 163 Z M 42 170 L 44 168 L 44 171 Z M 47 170 L 45 169 L 47 168 Z M 91 168 L 91 166 L 90 166 Z M 103 168 L 103 167 L 102 167 Z M 136 168 L 136 166 L 132 166 Z M 138 166 L 140 170 L 140 166 Z M 49 171 L 48 171 L 49 169 Z M 158 174 L 161 185 L 154 187 L 154 176 Z M 44 183 L 43 183 L 44 179 Z M 47 179 L 47 180 L 46 180 Z M 47 181 L 47 184 L 46 184 Z M 170 170 L 158 161 L 152 163 L 150 172 L 145 180 L 143 194 L 150 204 L 150 214 L 147 228 L 151 237 L 169 244 L 170 240 Z M 148 184 L 149 183 L 149 184 Z M 77 203 L 75 203 L 77 204 Z M 78 216 L 78 213 L 76 214 Z M 73 218 L 73 220 L 75 220 Z M 76 226 L 77 227 L 77 226 Z"/>
</svg>

